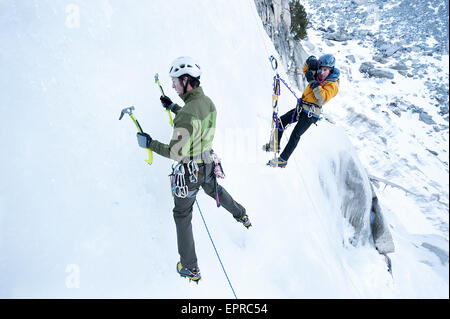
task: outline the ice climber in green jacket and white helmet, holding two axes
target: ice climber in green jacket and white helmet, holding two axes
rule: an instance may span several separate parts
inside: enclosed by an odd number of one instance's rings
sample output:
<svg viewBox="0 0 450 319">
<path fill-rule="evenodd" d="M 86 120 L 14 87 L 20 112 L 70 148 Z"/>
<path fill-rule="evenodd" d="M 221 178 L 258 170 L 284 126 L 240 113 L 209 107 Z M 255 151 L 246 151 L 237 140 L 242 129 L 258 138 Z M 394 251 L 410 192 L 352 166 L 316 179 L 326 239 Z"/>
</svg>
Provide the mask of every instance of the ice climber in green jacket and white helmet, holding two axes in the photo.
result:
<svg viewBox="0 0 450 319">
<path fill-rule="evenodd" d="M 217 177 L 223 177 L 221 165 L 212 151 L 216 128 L 216 107 L 200 87 L 201 69 L 190 57 L 179 57 L 171 65 L 169 75 L 172 87 L 184 101 L 183 107 L 175 104 L 168 96 L 161 96 L 163 107 L 175 114 L 173 134 L 169 144 L 152 139 L 147 133 L 137 133 L 139 146 L 170 158 L 177 163 L 171 175 L 175 207 L 173 217 L 177 229 L 180 261 L 177 272 L 182 277 L 198 282 L 200 270 L 195 253 L 192 233 L 192 207 L 200 189 L 216 199 L 233 217 L 250 227 L 245 208 L 217 184 Z"/>
</svg>

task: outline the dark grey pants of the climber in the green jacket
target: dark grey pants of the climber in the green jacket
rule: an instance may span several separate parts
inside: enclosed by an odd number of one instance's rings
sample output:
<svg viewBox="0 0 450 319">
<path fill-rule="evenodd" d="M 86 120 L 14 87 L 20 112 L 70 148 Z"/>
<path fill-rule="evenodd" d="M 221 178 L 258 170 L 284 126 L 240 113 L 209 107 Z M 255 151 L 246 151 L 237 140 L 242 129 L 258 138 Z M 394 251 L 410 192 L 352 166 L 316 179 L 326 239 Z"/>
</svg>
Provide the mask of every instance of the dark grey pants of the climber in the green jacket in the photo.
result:
<svg viewBox="0 0 450 319">
<path fill-rule="evenodd" d="M 203 188 L 206 194 L 216 200 L 214 163 L 199 164 L 198 181 L 192 183 L 189 180 L 189 173 L 185 167 L 186 185 L 189 192 L 186 198 L 174 196 L 175 207 L 173 209 L 173 218 L 177 228 L 178 253 L 183 267 L 197 267 L 197 255 L 195 254 L 194 236 L 192 233 L 192 207 L 195 198 L 200 189 Z M 239 219 L 245 215 L 245 208 L 237 203 L 230 194 L 217 184 L 217 194 L 220 204 L 229 211 L 234 218 Z"/>
</svg>

